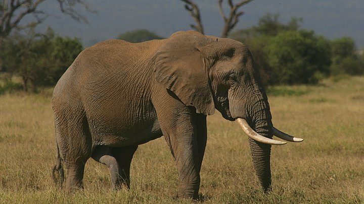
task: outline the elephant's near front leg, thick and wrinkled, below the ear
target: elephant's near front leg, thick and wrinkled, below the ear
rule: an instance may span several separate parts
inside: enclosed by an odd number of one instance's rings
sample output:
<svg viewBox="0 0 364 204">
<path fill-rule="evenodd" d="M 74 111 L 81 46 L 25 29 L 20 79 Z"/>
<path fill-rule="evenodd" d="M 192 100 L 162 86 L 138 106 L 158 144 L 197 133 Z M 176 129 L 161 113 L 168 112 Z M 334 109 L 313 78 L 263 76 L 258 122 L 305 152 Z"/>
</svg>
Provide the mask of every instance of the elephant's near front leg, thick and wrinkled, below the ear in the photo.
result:
<svg viewBox="0 0 364 204">
<path fill-rule="evenodd" d="M 155 107 L 163 135 L 177 165 L 178 197 L 197 198 L 202 161 L 198 150 L 197 114 L 184 104 L 173 104 L 168 100 L 161 104 Z M 166 107 L 173 109 L 167 110 Z"/>
</svg>

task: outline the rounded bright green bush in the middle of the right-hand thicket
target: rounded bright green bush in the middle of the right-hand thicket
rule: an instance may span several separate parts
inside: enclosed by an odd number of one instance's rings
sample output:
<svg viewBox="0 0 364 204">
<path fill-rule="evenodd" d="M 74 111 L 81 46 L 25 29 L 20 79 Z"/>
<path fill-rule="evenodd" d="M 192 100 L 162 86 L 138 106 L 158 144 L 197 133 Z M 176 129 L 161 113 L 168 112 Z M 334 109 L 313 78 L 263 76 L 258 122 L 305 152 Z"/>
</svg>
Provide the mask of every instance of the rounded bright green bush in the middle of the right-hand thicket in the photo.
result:
<svg viewBox="0 0 364 204">
<path fill-rule="evenodd" d="M 272 84 L 314 84 L 329 73 L 330 44 L 313 31 L 285 31 L 267 46 Z"/>
</svg>

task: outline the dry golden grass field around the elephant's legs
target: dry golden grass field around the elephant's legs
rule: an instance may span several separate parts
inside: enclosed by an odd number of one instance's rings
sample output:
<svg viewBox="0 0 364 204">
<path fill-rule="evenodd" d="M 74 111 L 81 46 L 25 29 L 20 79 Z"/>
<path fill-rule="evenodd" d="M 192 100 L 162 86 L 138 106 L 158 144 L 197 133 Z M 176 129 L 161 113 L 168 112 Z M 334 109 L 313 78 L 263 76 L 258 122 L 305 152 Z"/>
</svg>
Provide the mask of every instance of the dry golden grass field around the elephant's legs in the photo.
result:
<svg viewBox="0 0 364 204">
<path fill-rule="evenodd" d="M 0 95 L 1 203 L 190 203 L 174 200 L 177 170 L 164 138 L 139 146 L 131 189 L 114 191 L 106 166 L 89 159 L 84 190 L 55 187 L 52 89 Z M 303 138 L 272 147 L 272 192 L 262 194 L 248 137 L 216 112 L 209 116 L 201 170 L 205 203 L 364 202 L 364 77 L 268 89 L 274 125 Z"/>
</svg>

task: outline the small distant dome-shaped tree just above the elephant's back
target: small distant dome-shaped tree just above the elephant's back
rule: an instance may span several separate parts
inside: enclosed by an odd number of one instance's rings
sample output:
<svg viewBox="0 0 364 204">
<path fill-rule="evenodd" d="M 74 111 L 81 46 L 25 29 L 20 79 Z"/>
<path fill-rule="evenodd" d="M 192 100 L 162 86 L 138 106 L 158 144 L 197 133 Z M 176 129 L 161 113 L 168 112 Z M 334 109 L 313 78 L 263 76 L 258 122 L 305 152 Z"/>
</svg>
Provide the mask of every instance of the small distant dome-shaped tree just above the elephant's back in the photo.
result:
<svg viewBox="0 0 364 204">
<path fill-rule="evenodd" d="M 163 39 L 163 37 L 148 31 L 146 29 L 139 29 L 133 31 L 127 31 L 123 34 L 120 34 L 118 37 L 120 40 L 125 40 L 128 42 L 144 42 L 148 40 L 155 40 L 155 39 Z"/>
</svg>

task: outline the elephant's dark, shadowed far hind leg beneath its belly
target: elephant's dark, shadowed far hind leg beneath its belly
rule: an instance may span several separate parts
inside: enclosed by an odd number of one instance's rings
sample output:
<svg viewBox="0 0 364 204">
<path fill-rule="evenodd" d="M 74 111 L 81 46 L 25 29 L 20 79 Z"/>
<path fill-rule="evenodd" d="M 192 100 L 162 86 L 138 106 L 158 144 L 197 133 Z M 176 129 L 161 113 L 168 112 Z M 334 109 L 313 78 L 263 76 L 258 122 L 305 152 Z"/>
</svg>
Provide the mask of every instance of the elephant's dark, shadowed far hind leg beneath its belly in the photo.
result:
<svg viewBox="0 0 364 204">
<path fill-rule="evenodd" d="M 138 145 L 111 149 L 119 165 L 118 181 L 115 184 L 116 189 L 123 186 L 130 189 L 130 163 L 136 149 L 138 149 Z"/>
</svg>

